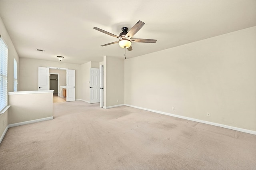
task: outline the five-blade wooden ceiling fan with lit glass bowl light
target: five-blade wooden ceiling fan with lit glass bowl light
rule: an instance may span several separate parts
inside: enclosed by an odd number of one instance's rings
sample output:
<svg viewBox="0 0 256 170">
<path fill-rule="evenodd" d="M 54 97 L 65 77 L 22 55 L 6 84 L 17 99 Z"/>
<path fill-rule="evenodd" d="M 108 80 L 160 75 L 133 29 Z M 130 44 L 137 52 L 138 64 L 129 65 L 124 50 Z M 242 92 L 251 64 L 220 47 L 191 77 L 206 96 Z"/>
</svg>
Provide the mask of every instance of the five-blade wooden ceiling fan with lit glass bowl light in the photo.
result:
<svg viewBox="0 0 256 170">
<path fill-rule="evenodd" d="M 131 51 L 132 50 L 132 42 L 155 43 L 157 41 L 157 40 L 152 40 L 152 39 L 132 38 L 134 36 L 134 34 L 136 34 L 140 30 L 140 28 L 142 28 L 142 26 L 144 26 L 144 24 L 145 24 L 144 22 L 138 21 L 129 31 L 128 31 L 127 27 L 123 27 L 122 32 L 119 34 L 119 36 L 111 34 L 110 32 L 106 32 L 97 27 L 94 27 L 93 29 L 119 39 L 116 42 L 100 45 L 101 47 L 110 45 L 110 44 L 114 44 L 114 43 L 119 43 L 120 47 L 127 48 L 128 51 Z"/>
</svg>

